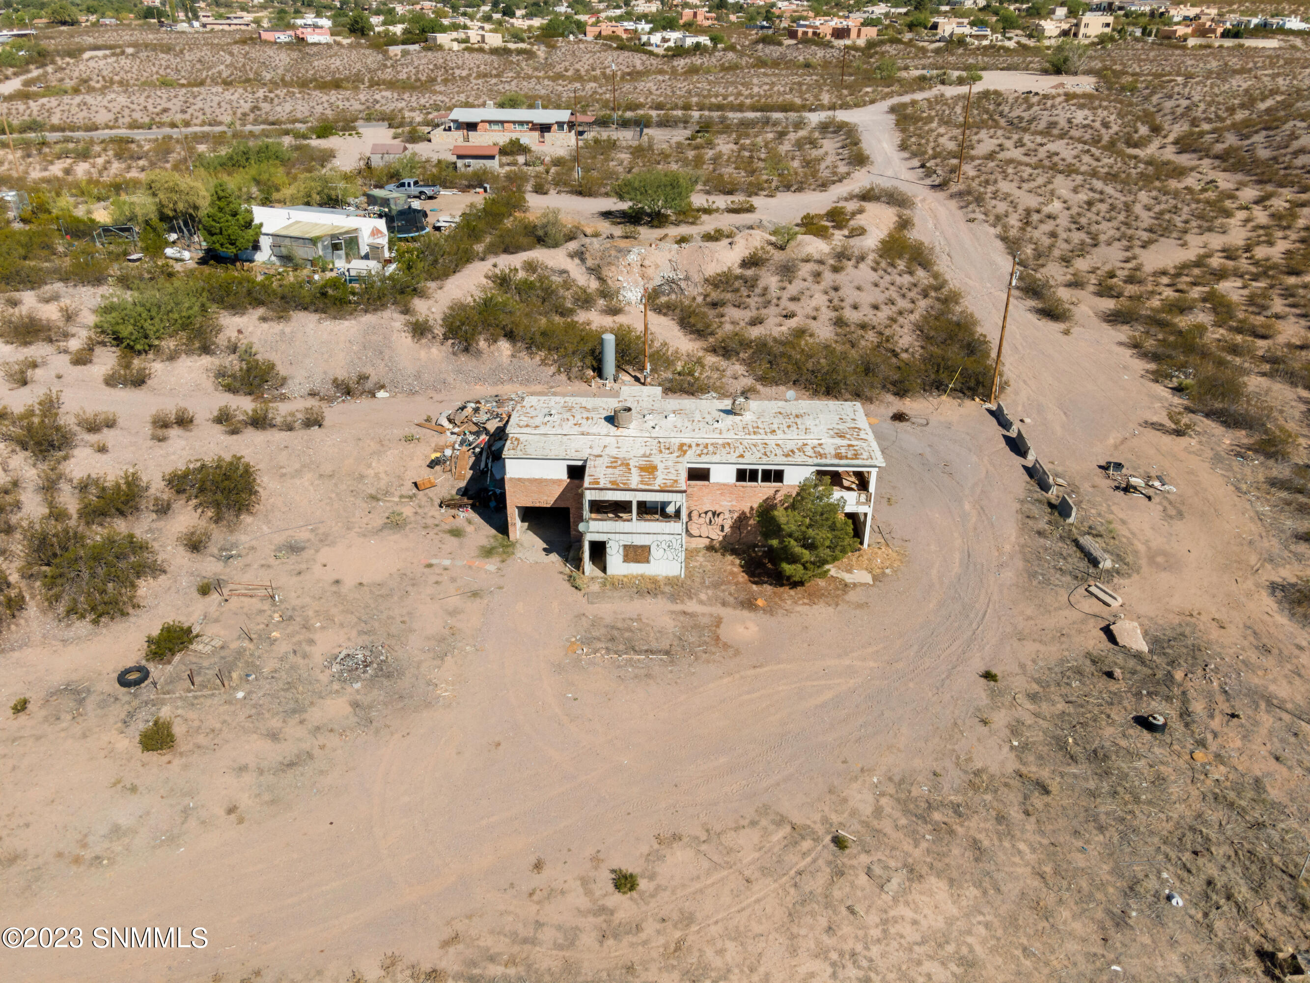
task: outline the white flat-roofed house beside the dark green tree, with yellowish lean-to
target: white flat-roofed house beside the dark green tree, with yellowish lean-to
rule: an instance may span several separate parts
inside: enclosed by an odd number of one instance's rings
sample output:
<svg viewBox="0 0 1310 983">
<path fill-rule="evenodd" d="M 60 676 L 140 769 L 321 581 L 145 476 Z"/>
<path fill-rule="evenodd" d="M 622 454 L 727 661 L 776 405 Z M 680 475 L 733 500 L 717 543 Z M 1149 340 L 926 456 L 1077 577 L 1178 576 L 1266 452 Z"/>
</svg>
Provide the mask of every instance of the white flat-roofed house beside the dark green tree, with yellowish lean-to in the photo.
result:
<svg viewBox="0 0 1310 983">
<path fill-rule="evenodd" d="M 257 204 L 252 211 L 262 227 L 255 262 L 295 266 L 318 258 L 330 266 L 345 267 L 358 260 L 386 262 L 390 258 L 385 219 L 354 208 L 308 204 L 292 208 Z"/>
</svg>

